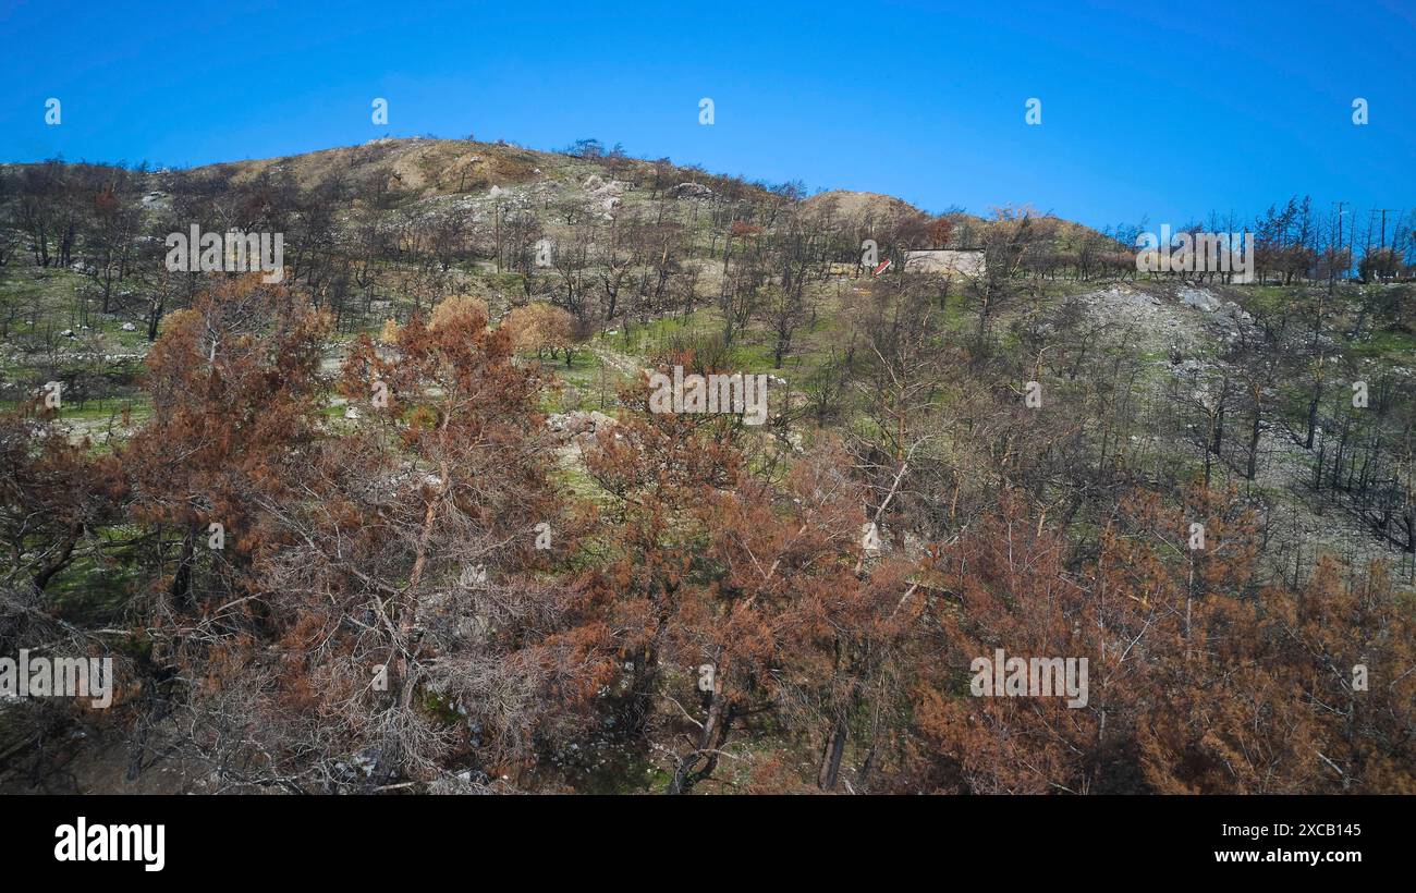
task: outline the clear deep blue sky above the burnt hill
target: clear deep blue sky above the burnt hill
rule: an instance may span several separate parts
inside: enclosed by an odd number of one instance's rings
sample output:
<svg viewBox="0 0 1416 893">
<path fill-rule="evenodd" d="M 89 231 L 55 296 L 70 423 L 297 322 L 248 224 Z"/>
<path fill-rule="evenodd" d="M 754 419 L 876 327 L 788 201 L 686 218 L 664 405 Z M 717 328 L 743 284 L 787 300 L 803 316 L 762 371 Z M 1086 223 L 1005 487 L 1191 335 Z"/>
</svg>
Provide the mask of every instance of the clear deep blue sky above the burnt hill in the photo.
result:
<svg viewBox="0 0 1416 893">
<path fill-rule="evenodd" d="M 384 134 L 598 137 L 930 211 L 1031 202 L 1158 225 L 1249 217 L 1293 192 L 1410 211 L 1413 62 L 1413 0 L 0 0 L 0 160 L 188 166 Z M 370 120 L 375 96 L 387 127 Z M 698 125 L 704 96 L 712 126 Z M 1042 126 L 1024 123 L 1028 98 Z"/>
</svg>

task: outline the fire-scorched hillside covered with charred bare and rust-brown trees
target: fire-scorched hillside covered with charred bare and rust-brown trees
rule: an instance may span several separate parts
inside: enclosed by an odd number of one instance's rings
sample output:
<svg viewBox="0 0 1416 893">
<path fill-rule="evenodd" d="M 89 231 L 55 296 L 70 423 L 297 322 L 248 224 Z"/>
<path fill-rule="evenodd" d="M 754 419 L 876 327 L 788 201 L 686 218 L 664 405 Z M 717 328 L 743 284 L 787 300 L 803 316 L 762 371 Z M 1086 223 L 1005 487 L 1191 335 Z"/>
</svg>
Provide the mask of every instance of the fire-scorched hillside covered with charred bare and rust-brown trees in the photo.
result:
<svg viewBox="0 0 1416 893">
<path fill-rule="evenodd" d="M 0 788 L 1413 784 L 1409 279 L 576 153 L 0 168 Z"/>
</svg>

